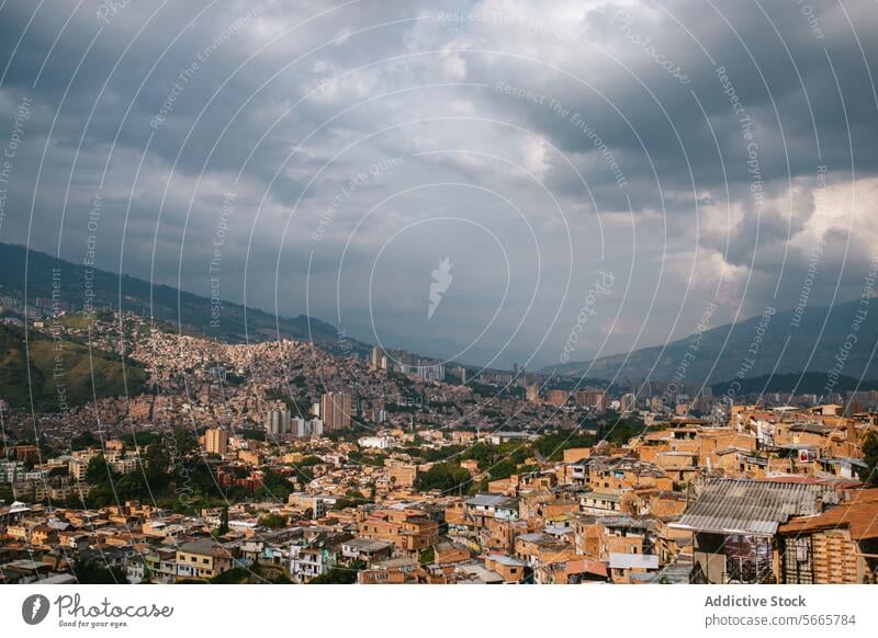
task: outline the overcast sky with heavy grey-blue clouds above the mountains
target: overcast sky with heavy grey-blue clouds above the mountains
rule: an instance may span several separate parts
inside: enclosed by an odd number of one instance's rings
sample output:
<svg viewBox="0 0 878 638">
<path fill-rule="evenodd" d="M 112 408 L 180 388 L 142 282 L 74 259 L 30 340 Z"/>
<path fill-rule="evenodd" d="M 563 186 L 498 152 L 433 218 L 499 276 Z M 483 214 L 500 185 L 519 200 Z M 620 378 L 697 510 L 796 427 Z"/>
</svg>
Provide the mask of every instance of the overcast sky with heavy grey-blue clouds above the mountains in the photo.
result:
<svg viewBox="0 0 878 638">
<path fill-rule="evenodd" d="M 719 326 L 854 299 L 876 18 L 0 0 L 0 241 L 80 262 L 91 237 L 112 271 L 530 368 L 684 337 L 712 305 Z"/>
</svg>

